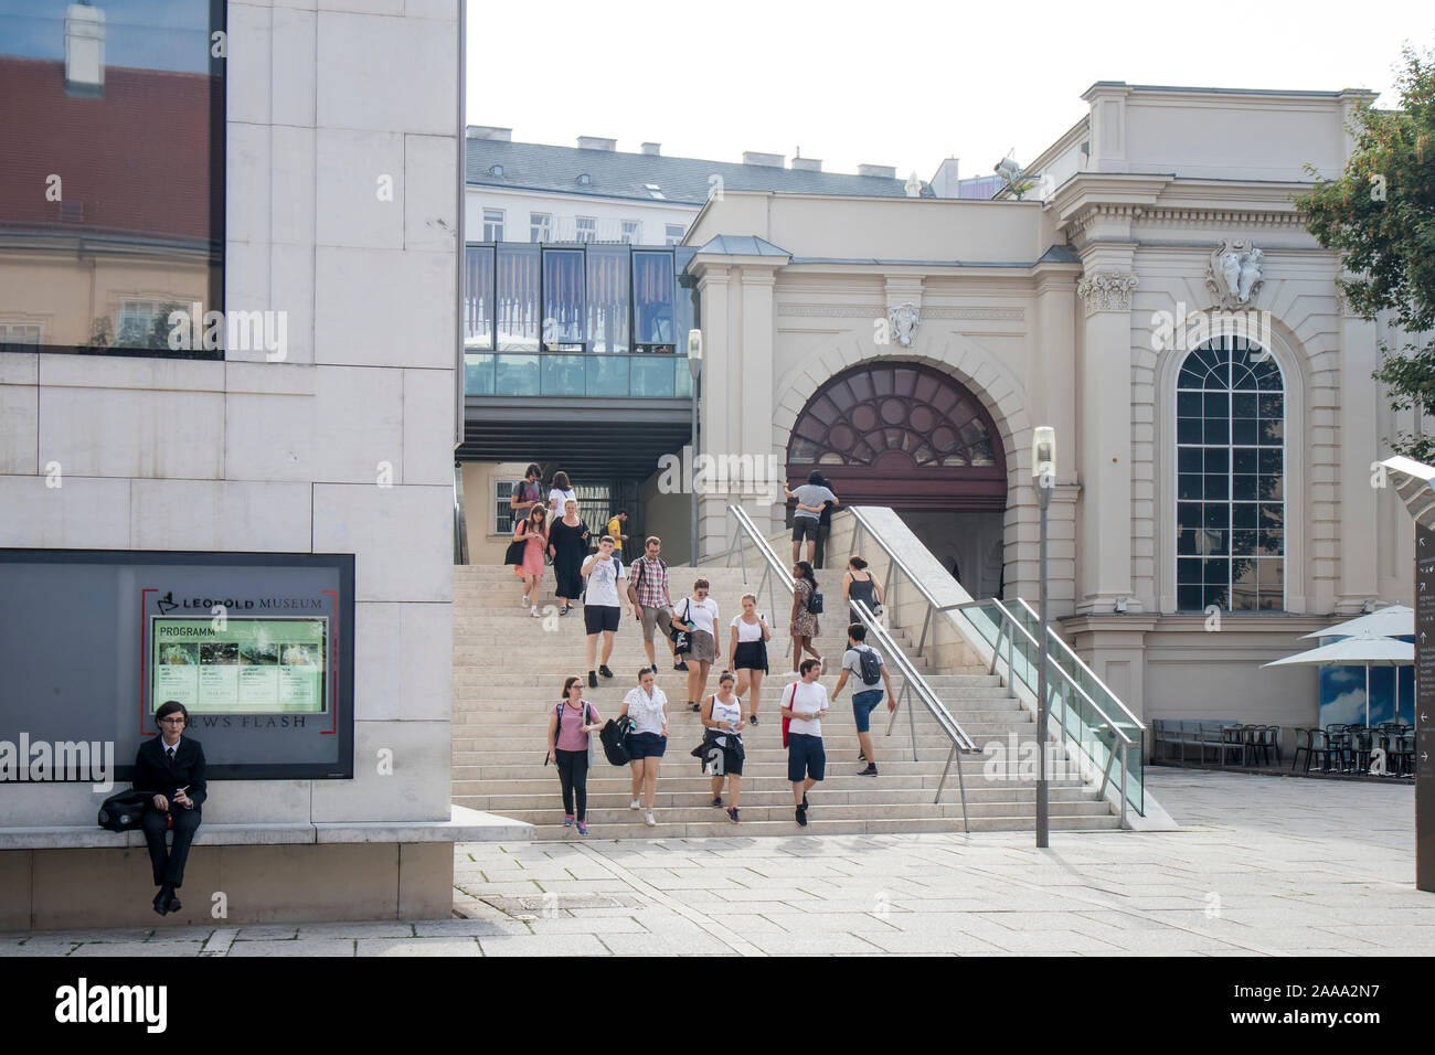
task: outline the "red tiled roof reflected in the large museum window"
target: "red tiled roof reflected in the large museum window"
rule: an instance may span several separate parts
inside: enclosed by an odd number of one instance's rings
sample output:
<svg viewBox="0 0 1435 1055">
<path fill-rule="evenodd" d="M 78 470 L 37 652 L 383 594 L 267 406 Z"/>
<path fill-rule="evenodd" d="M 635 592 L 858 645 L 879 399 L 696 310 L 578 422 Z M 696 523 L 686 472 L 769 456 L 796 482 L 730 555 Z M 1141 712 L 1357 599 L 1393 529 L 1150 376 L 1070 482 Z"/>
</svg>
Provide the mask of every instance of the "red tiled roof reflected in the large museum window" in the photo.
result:
<svg viewBox="0 0 1435 1055">
<path fill-rule="evenodd" d="M 0 57 L 0 227 L 207 241 L 211 83 L 108 66 L 103 98 L 85 98 L 63 62 Z"/>
</svg>

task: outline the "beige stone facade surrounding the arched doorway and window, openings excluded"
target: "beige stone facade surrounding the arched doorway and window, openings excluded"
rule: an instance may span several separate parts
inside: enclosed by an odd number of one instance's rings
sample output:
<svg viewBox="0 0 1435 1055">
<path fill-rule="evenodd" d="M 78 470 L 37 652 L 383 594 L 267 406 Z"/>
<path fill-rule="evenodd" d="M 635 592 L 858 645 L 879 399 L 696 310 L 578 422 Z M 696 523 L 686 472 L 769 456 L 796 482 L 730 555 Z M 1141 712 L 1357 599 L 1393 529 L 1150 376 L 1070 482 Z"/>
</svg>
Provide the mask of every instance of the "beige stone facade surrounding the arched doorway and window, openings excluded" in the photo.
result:
<svg viewBox="0 0 1435 1055">
<path fill-rule="evenodd" d="M 1089 115 L 1027 169 L 1038 201 L 709 202 L 687 244 L 756 235 L 784 255 L 700 251 L 690 266 L 707 357 L 702 448 L 785 456 L 834 375 L 878 359 L 936 366 L 1000 432 L 1009 597 L 1036 597 L 1029 446 L 1052 425 L 1052 611 L 1096 673 L 1147 718 L 1313 723 L 1314 672 L 1260 665 L 1366 601 L 1411 597 L 1409 524 L 1370 464 L 1413 422 L 1370 379 L 1383 323 L 1345 314 L 1336 254 L 1292 204 L 1310 185 L 1304 162 L 1342 171 L 1343 121 L 1369 96 L 1102 82 L 1085 98 Z M 1230 287 L 1210 281 L 1223 247 L 1237 250 L 1218 276 Z M 920 319 L 910 347 L 880 343 L 903 304 Z M 1283 610 L 1227 611 L 1215 632 L 1178 611 L 1175 589 L 1175 376 L 1201 337 L 1162 320 L 1223 304 L 1258 320 L 1251 336 L 1284 378 L 1286 589 Z M 781 525 L 781 505 L 752 512 Z M 725 530 L 709 500 L 705 553 L 722 551 Z"/>
</svg>

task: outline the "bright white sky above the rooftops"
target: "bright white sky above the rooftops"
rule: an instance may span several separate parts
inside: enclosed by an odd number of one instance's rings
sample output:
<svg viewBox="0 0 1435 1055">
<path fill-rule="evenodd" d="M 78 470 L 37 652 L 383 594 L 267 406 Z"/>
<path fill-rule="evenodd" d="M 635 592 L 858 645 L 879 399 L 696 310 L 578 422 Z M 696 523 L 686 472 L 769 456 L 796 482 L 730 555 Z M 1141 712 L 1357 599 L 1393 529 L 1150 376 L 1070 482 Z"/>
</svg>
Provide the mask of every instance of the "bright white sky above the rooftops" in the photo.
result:
<svg viewBox="0 0 1435 1055">
<path fill-rule="evenodd" d="M 1366 88 L 1393 105 L 1405 43 L 1435 49 L 1435 4 L 469 0 L 466 123 L 713 161 L 801 148 L 828 172 L 923 179 L 956 156 L 971 177 L 1032 161 L 1096 80 Z"/>
</svg>

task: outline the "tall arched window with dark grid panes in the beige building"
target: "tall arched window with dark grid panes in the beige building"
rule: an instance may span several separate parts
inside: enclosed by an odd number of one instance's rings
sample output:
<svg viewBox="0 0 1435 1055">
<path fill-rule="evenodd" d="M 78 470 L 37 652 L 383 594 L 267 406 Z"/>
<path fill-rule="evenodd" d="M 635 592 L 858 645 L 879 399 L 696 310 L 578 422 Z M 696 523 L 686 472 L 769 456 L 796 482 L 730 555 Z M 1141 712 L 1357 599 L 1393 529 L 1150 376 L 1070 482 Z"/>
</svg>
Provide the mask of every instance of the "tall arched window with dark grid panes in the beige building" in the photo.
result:
<svg viewBox="0 0 1435 1055">
<path fill-rule="evenodd" d="M 1270 352 L 1217 337 L 1177 378 L 1177 607 L 1286 607 L 1286 386 Z"/>
</svg>

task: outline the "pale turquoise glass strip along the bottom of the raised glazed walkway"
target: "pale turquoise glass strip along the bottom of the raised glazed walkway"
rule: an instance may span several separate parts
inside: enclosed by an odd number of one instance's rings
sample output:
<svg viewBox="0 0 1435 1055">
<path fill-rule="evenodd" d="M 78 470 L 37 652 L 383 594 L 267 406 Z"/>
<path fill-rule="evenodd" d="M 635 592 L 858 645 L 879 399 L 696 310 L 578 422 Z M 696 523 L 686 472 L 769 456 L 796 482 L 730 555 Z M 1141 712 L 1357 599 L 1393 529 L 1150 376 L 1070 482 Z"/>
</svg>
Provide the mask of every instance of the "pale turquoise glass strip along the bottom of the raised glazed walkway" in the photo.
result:
<svg viewBox="0 0 1435 1055">
<path fill-rule="evenodd" d="M 471 396 L 633 396 L 690 399 L 686 355 L 597 352 L 468 352 L 464 392 Z"/>
</svg>

